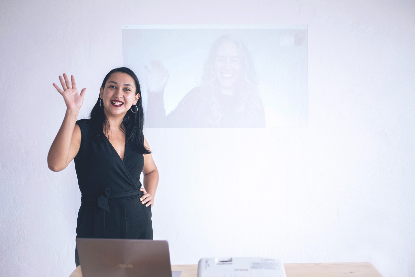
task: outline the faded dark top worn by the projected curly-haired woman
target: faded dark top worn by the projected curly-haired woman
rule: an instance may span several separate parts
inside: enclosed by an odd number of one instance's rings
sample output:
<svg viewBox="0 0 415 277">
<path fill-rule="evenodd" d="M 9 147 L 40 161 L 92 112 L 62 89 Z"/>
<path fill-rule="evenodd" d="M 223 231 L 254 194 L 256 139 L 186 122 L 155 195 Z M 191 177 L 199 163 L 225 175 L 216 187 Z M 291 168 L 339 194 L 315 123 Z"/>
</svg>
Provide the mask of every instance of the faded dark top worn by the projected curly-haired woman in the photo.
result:
<svg viewBox="0 0 415 277">
<path fill-rule="evenodd" d="M 214 97 L 212 97 L 214 95 Z M 261 99 L 243 103 L 237 95 L 225 95 L 193 88 L 166 115 L 162 93 L 148 93 L 147 127 L 149 128 L 263 128 L 265 112 Z"/>
</svg>

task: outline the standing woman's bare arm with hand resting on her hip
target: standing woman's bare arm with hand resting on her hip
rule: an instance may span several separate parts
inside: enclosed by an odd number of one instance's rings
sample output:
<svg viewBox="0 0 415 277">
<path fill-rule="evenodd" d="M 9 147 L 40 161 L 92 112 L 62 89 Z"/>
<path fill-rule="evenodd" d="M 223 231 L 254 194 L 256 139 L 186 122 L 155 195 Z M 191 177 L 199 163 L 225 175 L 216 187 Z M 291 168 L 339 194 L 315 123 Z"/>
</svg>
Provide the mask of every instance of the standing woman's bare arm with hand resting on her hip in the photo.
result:
<svg viewBox="0 0 415 277">
<path fill-rule="evenodd" d="M 144 137 L 144 146 L 147 149 L 150 149 L 149 144 Z M 143 167 L 143 174 L 144 174 L 144 195 L 141 197 L 140 201 L 142 204 L 146 206 L 154 205 L 154 196 L 156 195 L 157 185 L 159 184 L 159 171 L 157 170 L 156 164 L 154 163 L 153 157 L 151 154 L 144 155 L 144 167 Z"/>
</svg>

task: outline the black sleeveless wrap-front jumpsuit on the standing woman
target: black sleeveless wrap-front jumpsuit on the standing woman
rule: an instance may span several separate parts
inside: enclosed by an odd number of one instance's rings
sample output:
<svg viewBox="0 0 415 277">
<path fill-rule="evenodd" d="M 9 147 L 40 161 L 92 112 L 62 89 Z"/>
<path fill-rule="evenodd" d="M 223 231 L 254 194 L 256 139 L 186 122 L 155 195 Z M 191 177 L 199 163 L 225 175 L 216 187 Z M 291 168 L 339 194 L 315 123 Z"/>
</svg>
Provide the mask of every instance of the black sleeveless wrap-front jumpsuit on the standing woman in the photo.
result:
<svg viewBox="0 0 415 277">
<path fill-rule="evenodd" d="M 76 124 L 81 146 L 73 160 L 82 194 L 76 238 L 153 239 L 151 206 L 140 201 L 143 154 L 126 143 L 122 160 L 104 134 L 94 139 L 90 120 Z M 79 265 L 76 248 L 75 263 Z"/>
</svg>

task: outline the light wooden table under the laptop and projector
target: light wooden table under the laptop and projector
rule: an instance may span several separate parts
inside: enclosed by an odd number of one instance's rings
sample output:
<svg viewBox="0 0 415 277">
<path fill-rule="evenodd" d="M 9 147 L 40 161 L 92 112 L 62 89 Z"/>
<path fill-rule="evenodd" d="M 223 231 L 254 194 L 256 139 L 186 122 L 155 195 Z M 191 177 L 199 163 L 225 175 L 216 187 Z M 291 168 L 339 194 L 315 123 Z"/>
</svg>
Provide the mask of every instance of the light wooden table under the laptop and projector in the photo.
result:
<svg viewBox="0 0 415 277">
<path fill-rule="evenodd" d="M 370 262 L 331 262 L 284 264 L 287 277 L 382 277 Z M 182 272 L 180 277 L 197 277 L 198 265 L 172 265 L 171 270 Z M 69 277 L 82 277 L 78 266 Z"/>
</svg>

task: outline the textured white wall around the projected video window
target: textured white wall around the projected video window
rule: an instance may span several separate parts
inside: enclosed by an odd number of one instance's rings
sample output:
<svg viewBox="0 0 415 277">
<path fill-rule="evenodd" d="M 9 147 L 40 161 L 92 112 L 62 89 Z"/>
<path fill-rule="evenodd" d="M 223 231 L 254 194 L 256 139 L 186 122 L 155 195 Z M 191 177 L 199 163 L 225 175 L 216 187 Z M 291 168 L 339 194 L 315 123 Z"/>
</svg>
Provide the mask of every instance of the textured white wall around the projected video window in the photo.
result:
<svg viewBox="0 0 415 277">
<path fill-rule="evenodd" d="M 372 262 L 415 275 L 415 2 L 0 3 L 0 275 L 68 276 L 73 163 L 46 156 L 65 112 L 51 83 L 88 88 L 122 65 L 122 24 L 308 24 L 308 128 L 146 130 L 160 171 L 154 238 L 203 256 Z"/>
</svg>

